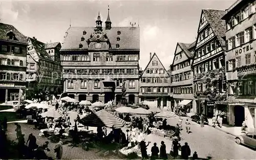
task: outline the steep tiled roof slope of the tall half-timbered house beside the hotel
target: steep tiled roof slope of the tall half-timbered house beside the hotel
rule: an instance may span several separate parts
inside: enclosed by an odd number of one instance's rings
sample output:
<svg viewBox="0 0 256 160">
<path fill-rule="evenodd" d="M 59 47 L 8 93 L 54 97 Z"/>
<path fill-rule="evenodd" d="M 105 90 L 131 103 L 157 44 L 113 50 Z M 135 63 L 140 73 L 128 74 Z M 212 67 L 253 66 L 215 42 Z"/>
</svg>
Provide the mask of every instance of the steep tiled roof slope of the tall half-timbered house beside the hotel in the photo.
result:
<svg viewBox="0 0 256 160">
<path fill-rule="evenodd" d="M 221 18 L 225 15 L 226 12 L 223 10 L 203 9 L 202 13 L 204 13 L 206 20 L 220 41 L 221 46 L 225 46 L 226 42 L 223 37 L 225 37 L 226 25 L 225 20 L 222 20 Z"/>
</svg>

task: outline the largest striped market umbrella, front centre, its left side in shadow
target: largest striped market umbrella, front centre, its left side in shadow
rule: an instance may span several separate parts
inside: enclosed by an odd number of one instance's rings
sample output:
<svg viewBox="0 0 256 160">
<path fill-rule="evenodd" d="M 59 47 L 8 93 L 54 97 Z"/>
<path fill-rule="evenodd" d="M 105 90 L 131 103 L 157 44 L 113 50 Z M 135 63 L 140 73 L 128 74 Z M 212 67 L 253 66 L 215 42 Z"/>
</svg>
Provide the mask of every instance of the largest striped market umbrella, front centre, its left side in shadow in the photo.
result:
<svg viewBox="0 0 256 160">
<path fill-rule="evenodd" d="M 109 128 L 122 128 L 125 125 L 124 120 L 103 109 L 82 118 L 80 123 L 84 126 Z"/>
</svg>

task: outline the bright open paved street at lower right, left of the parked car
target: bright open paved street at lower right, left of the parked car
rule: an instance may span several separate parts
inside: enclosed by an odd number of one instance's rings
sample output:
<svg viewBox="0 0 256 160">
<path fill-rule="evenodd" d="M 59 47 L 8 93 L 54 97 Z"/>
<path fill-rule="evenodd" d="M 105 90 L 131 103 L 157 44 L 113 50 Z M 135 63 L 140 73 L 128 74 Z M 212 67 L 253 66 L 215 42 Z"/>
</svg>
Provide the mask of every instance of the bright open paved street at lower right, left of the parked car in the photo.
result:
<svg viewBox="0 0 256 160">
<path fill-rule="evenodd" d="M 205 158 L 211 155 L 214 159 L 256 159 L 256 152 L 250 148 L 236 144 L 234 136 L 224 133 L 211 126 L 203 128 L 195 122 L 191 122 L 192 133 L 187 134 L 183 118 L 183 130 L 181 145 L 188 143 L 191 155 L 197 151 L 198 156 Z M 170 122 L 174 124 L 175 122 Z"/>
</svg>

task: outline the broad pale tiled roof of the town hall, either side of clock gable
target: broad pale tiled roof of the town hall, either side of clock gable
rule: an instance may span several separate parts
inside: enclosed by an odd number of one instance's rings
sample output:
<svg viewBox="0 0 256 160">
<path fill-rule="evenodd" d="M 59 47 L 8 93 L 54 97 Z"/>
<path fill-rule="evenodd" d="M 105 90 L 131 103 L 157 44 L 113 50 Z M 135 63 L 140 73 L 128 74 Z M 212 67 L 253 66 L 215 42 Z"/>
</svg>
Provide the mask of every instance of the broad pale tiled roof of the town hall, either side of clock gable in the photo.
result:
<svg viewBox="0 0 256 160">
<path fill-rule="evenodd" d="M 61 45 L 60 51 L 65 50 L 88 50 L 87 39 L 90 38 L 91 34 L 94 33 L 95 27 L 71 27 L 66 32 L 66 36 Z M 103 33 L 106 33 L 110 43 L 112 45 L 112 50 L 139 50 L 140 49 L 140 28 L 139 27 L 112 27 L 110 30 L 105 30 L 103 27 Z M 87 34 L 83 35 L 83 31 Z M 120 31 L 121 34 L 118 35 L 117 32 Z M 84 37 L 84 41 L 81 41 L 81 37 Z M 117 37 L 120 40 L 117 41 Z M 79 44 L 83 47 L 80 49 Z M 116 44 L 120 47 L 116 48 Z"/>
</svg>

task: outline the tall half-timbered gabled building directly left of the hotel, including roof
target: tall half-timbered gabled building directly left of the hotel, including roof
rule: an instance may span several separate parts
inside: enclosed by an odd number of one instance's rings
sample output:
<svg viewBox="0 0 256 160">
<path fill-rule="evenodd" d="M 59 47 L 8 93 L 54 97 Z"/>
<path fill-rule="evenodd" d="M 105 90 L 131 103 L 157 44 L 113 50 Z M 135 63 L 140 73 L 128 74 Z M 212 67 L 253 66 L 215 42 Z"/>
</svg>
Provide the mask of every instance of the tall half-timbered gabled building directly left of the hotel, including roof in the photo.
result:
<svg viewBox="0 0 256 160">
<path fill-rule="evenodd" d="M 193 105 L 198 113 L 211 117 L 215 102 L 226 100 L 225 21 L 222 10 L 203 9 L 193 60 Z"/>
</svg>

